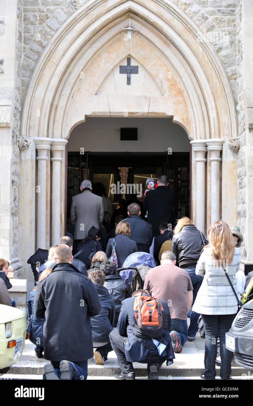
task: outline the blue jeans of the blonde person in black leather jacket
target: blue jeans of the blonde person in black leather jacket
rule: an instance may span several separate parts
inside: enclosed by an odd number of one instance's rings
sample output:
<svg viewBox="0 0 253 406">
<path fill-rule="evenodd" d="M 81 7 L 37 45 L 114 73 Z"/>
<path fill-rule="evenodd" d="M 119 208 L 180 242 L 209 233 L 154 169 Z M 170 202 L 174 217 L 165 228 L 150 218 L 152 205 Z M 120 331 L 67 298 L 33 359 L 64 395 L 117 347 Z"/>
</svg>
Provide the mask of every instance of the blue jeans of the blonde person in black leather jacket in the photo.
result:
<svg viewBox="0 0 253 406">
<path fill-rule="evenodd" d="M 195 269 L 196 269 L 196 266 L 189 266 L 188 268 L 184 269 L 188 273 L 188 275 L 190 276 L 190 279 L 192 281 L 192 286 L 193 286 L 192 306 L 194 305 L 197 293 L 198 293 L 199 288 L 201 287 L 201 284 L 203 281 L 203 276 L 196 275 Z M 196 311 L 192 311 L 192 306 L 188 313 L 188 316 L 190 317 L 190 326 L 188 328 L 188 338 L 190 338 L 190 339 L 194 339 L 196 336 L 196 333 L 198 331 L 197 322 L 198 322 L 198 317 L 200 316 L 200 314 L 196 313 Z"/>
</svg>

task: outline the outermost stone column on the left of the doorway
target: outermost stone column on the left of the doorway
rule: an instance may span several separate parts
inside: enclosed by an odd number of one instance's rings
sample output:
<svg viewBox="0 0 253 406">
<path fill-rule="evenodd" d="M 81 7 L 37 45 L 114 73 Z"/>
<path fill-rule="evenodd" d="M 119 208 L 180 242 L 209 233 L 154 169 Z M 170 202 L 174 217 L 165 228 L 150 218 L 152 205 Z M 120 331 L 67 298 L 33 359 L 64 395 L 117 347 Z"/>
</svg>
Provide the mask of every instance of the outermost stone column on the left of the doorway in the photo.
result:
<svg viewBox="0 0 253 406">
<path fill-rule="evenodd" d="M 35 138 L 35 147 L 38 151 L 38 181 L 37 192 L 37 248 L 46 247 L 46 161 L 50 150 L 51 138 Z"/>
</svg>

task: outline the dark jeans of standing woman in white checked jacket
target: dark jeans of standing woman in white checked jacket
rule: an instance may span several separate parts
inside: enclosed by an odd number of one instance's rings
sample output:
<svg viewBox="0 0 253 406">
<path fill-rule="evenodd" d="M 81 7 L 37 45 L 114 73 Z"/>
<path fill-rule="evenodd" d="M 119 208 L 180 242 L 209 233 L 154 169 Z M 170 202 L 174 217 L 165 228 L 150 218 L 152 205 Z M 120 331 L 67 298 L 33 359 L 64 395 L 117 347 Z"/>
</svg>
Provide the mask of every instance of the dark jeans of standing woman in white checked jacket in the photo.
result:
<svg viewBox="0 0 253 406">
<path fill-rule="evenodd" d="M 202 314 L 205 326 L 205 378 L 216 376 L 215 360 L 217 356 L 217 339 L 220 338 L 220 378 L 229 379 L 231 375 L 232 352 L 227 350 L 225 333 L 228 332 L 236 314 L 206 315 Z"/>
</svg>

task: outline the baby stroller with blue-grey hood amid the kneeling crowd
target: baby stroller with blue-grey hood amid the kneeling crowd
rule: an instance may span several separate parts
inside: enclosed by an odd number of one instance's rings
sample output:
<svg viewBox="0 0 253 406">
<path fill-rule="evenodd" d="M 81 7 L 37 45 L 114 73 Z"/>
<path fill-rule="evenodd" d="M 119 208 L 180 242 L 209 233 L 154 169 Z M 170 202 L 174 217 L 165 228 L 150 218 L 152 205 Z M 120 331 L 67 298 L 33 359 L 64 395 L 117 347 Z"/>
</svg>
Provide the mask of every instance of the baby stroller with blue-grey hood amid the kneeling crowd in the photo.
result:
<svg viewBox="0 0 253 406">
<path fill-rule="evenodd" d="M 155 259 L 152 255 L 144 252 L 130 254 L 123 263 L 122 268 L 118 268 L 118 273 L 125 279 L 134 292 L 142 289 L 146 274 L 151 268 L 155 268 Z"/>
</svg>

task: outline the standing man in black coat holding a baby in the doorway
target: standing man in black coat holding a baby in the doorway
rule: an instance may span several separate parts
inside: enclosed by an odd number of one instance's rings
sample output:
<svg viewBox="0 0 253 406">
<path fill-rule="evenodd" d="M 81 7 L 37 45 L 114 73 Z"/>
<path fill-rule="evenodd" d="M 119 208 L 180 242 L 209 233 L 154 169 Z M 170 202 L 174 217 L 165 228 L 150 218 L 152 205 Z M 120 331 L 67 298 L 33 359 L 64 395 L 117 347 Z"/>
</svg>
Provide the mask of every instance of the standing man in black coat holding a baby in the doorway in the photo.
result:
<svg viewBox="0 0 253 406">
<path fill-rule="evenodd" d="M 168 176 L 160 175 L 157 188 L 147 192 L 143 202 L 143 208 L 148 212 L 148 222 L 152 226 L 153 237 L 159 235 L 161 222 L 172 224 L 172 209 L 175 194 L 167 190 Z"/>
</svg>

